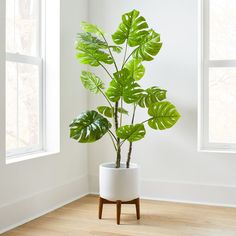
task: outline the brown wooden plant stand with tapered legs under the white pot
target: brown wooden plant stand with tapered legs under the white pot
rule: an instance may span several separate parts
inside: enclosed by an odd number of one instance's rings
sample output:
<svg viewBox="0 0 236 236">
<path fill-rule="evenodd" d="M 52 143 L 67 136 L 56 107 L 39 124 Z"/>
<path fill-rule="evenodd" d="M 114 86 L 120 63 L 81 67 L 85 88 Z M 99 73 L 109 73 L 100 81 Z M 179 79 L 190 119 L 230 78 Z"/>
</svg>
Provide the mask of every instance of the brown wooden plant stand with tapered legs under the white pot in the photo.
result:
<svg viewBox="0 0 236 236">
<path fill-rule="evenodd" d="M 99 197 L 99 212 L 98 212 L 98 218 L 102 219 L 102 209 L 103 209 L 103 204 L 116 204 L 116 222 L 119 225 L 120 224 L 120 214 L 121 214 L 121 205 L 122 204 L 135 204 L 136 207 L 136 216 L 137 220 L 140 219 L 140 200 L 139 198 L 136 198 L 131 201 L 123 202 L 123 201 L 109 201 L 106 200 L 102 197 Z"/>
</svg>

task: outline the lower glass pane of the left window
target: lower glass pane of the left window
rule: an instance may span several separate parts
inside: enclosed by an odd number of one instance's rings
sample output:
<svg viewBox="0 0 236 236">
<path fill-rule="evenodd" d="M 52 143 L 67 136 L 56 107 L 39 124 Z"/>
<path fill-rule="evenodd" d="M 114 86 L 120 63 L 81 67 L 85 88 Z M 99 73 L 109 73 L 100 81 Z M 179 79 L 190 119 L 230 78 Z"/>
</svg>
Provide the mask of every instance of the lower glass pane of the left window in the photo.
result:
<svg viewBox="0 0 236 236">
<path fill-rule="evenodd" d="M 6 149 L 39 144 L 39 68 L 6 63 Z"/>
</svg>

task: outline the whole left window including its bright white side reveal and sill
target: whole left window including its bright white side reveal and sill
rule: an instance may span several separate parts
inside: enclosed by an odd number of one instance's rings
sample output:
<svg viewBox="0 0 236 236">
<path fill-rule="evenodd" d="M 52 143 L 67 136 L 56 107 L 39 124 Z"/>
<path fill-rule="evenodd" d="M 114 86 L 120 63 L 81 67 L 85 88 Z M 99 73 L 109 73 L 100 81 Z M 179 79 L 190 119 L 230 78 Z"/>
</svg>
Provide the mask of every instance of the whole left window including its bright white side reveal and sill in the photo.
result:
<svg viewBox="0 0 236 236">
<path fill-rule="evenodd" d="M 0 1 L 6 164 L 60 151 L 60 1 Z M 5 117 L 5 118 L 4 118 Z"/>
</svg>

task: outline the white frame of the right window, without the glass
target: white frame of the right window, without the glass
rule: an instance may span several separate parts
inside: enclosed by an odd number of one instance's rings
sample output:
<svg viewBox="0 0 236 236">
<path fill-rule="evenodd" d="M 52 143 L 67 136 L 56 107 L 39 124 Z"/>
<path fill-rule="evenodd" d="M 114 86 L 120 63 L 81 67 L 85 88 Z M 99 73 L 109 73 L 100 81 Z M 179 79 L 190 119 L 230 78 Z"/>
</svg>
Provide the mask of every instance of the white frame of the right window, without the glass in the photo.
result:
<svg viewBox="0 0 236 236">
<path fill-rule="evenodd" d="M 210 60 L 210 0 L 199 0 L 198 51 L 198 150 L 235 153 L 236 143 L 209 142 L 209 68 L 234 67 L 236 60 Z"/>
</svg>

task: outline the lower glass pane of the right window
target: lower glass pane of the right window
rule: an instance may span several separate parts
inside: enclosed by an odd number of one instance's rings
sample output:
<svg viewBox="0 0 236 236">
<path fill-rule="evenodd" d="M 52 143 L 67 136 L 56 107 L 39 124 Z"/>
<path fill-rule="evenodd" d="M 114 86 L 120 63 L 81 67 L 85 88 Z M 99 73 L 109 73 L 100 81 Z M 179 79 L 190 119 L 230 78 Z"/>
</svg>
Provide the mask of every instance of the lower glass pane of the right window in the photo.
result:
<svg viewBox="0 0 236 236">
<path fill-rule="evenodd" d="M 209 70 L 209 142 L 236 143 L 236 68 Z"/>
</svg>

